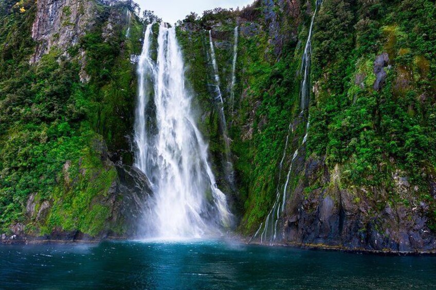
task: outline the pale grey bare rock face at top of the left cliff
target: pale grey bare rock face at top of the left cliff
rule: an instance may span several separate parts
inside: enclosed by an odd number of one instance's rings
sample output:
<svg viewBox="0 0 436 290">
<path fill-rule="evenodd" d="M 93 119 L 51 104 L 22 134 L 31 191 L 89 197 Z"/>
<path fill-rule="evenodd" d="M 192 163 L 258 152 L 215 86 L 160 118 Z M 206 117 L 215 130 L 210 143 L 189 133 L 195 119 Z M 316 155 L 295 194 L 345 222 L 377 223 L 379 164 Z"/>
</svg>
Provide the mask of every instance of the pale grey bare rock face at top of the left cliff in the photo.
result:
<svg viewBox="0 0 436 290">
<path fill-rule="evenodd" d="M 39 0 L 32 27 L 38 43 L 31 62 L 38 62 L 53 47 L 66 51 L 94 24 L 95 3 L 79 0 Z"/>
</svg>

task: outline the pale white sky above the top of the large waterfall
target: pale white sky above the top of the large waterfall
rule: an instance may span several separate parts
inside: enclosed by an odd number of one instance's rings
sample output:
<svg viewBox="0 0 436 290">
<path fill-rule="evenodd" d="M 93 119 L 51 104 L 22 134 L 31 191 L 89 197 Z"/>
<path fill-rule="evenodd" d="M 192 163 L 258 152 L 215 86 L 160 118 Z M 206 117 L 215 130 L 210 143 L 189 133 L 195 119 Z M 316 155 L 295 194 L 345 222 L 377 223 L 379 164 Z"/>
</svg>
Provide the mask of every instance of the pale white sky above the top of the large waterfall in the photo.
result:
<svg viewBox="0 0 436 290">
<path fill-rule="evenodd" d="M 244 7 L 254 0 L 136 0 L 141 11 L 152 10 L 162 18 L 162 21 L 176 23 L 177 20 L 185 19 L 191 12 L 202 15 L 203 11 L 216 7 L 236 8 Z M 141 12 L 142 13 L 142 12 Z"/>
</svg>

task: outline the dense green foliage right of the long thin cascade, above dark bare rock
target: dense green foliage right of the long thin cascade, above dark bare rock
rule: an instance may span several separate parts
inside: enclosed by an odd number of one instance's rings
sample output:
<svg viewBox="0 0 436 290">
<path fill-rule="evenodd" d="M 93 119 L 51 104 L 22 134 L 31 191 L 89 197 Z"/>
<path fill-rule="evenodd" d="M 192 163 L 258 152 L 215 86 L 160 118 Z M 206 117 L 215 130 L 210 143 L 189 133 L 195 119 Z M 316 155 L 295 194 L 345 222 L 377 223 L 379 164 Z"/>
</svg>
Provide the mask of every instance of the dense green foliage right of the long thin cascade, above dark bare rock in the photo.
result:
<svg viewBox="0 0 436 290">
<path fill-rule="evenodd" d="M 324 1 L 314 34 L 308 149 L 347 186 L 386 187 L 390 200 L 430 203 L 436 136 L 436 8 L 420 1 Z M 386 84 L 373 88 L 376 56 L 387 52 Z M 400 197 L 392 176 L 418 192 Z M 436 213 L 436 212 L 435 212 Z M 434 223 L 434 215 L 432 223 Z"/>
</svg>

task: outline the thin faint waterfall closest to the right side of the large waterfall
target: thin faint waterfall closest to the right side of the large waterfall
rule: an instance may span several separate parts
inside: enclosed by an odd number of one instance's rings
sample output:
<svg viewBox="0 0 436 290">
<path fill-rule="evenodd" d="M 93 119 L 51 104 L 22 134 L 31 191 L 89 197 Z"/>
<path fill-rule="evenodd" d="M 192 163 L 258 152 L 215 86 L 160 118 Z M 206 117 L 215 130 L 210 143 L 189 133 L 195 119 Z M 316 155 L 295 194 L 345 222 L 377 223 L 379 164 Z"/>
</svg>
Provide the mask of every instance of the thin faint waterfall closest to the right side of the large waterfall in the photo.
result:
<svg viewBox="0 0 436 290">
<path fill-rule="evenodd" d="M 226 117 L 224 114 L 224 102 L 223 102 L 223 95 L 221 93 L 220 89 L 220 75 L 218 71 L 218 66 L 216 64 L 216 57 L 215 57 L 215 48 L 213 46 L 212 41 L 212 30 L 209 30 L 209 45 L 210 45 L 210 59 L 212 63 L 213 68 L 213 74 L 214 74 L 214 80 L 215 80 L 215 101 L 218 102 L 217 106 L 219 108 L 219 117 L 220 117 L 220 123 L 221 123 L 221 130 L 223 133 L 223 139 L 224 139 L 224 153 L 225 153 L 225 165 L 224 170 L 226 173 L 227 181 L 229 182 L 232 189 L 234 189 L 234 171 L 233 171 L 233 163 L 231 162 L 231 156 L 230 156 L 230 139 L 228 137 L 227 132 L 227 123 L 226 123 Z"/>
</svg>

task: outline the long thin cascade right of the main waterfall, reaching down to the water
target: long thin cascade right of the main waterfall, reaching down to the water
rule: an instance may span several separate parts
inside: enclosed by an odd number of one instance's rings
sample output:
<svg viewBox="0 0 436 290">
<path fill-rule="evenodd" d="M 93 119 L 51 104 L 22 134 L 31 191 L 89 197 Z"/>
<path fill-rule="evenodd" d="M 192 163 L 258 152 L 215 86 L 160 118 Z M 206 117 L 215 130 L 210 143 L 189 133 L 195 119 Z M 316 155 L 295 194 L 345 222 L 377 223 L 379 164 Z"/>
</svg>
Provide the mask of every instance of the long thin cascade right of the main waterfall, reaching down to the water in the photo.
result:
<svg viewBox="0 0 436 290">
<path fill-rule="evenodd" d="M 309 28 L 309 34 L 307 36 L 307 42 L 306 42 L 306 45 L 304 47 L 303 57 L 302 57 L 302 61 L 301 61 L 300 74 L 302 74 L 304 71 L 304 74 L 302 75 L 303 78 L 302 78 L 301 87 L 300 87 L 300 103 L 301 103 L 301 109 L 302 109 L 301 115 L 304 115 L 304 110 L 306 110 L 308 108 L 308 104 L 309 104 L 308 96 L 310 96 L 310 69 L 311 69 L 310 66 L 311 66 L 311 52 L 312 52 L 312 29 L 313 29 L 313 25 L 315 22 L 316 12 L 317 12 L 318 7 L 320 5 L 321 5 L 321 0 L 317 0 L 316 8 L 315 8 L 314 14 L 312 16 L 311 25 Z M 309 126 L 310 126 L 310 117 L 307 118 L 306 133 L 305 133 L 305 136 L 303 138 L 301 145 L 304 145 L 307 142 Z M 292 166 L 294 164 L 294 160 L 298 156 L 298 149 L 297 149 L 297 150 L 295 150 L 294 155 L 292 157 L 292 160 L 290 161 L 289 170 L 288 170 L 288 173 L 286 176 L 286 182 L 284 183 L 283 191 L 281 192 L 279 189 L 281 171 L 282 171 L 283 161 L 286 157 L 286 150 L 287 150 L 288 142 L 289 142 L 289 134 L 290 134 L 290 132 L 293 132 L 293 131 L 294 130 L 293 130 L 292 126 L 289 124 L 288 134 L 286 137 L 285 150 L 284 150 L 283 158 L 282 158 L 282 160 L 280 162 L 280 166 L 279 166 L 279 181 L 278 181 L 278 185 L 277 185 L 277 189 L 276 189 L 276 200 L 275 200 L 274 204 L 272 205 L 272 208 L 269 211 L 268 216 L 265 219 L 265 222 L 260 224 L 259 229 L 256 231 L 256 234 L 251 238 L 251 240 L 255 239 L 259 235 L 262 227 L 263 227 L 263 231 L 260 235 L 260 242 L 261 243 L 264 243 L 265 241 L 268 240 L 268 242 L 270 244 L 272 244 L 277 239 L 277 224 L 278 224 L 280 215 L 283 213 L 283 211 L 285 209 L 286 191 L 287 191 L 287 187 L 289 185 L 290 174 L 292 173 Z M 282 199 L 281 203 L 280 203 L 280 199 Z"/>
</svg>

